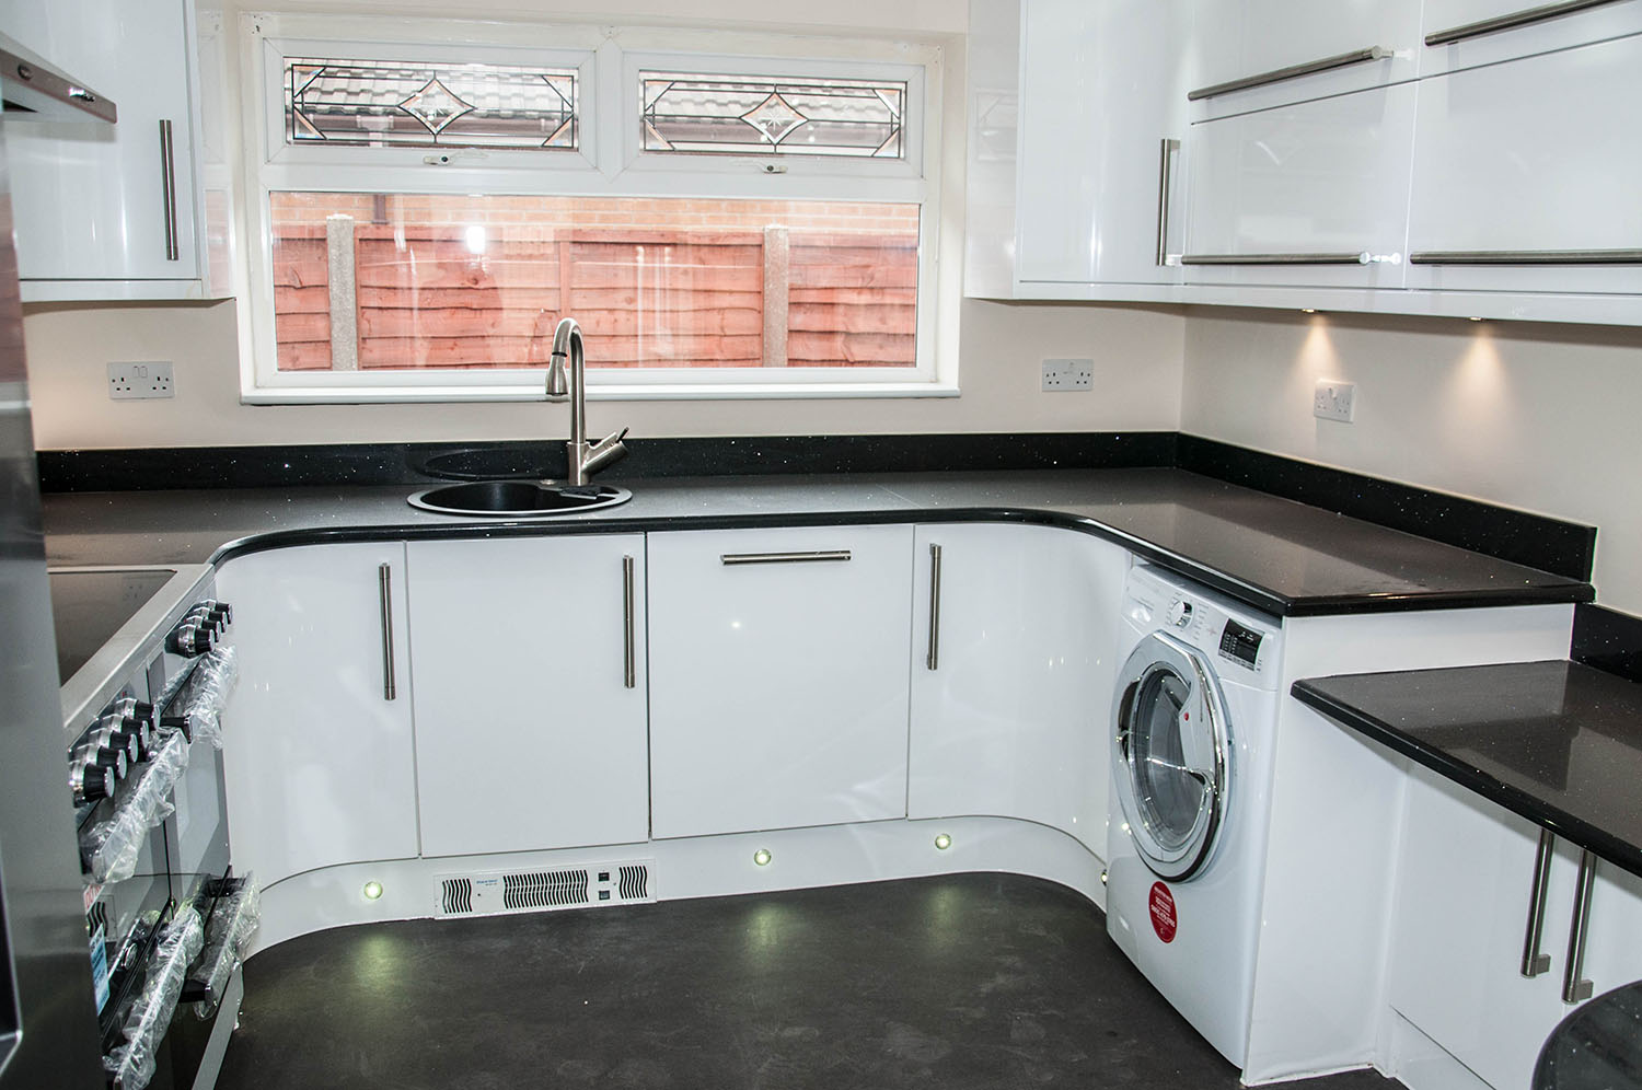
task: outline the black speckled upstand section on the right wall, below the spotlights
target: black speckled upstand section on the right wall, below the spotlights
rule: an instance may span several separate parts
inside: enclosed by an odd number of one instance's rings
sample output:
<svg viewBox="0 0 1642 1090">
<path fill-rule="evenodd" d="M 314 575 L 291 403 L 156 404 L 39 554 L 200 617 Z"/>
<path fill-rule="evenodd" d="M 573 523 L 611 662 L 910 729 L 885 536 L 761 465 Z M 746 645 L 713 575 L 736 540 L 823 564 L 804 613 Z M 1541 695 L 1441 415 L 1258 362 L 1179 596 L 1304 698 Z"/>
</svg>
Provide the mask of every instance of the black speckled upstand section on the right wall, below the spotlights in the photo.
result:
<svg viewBox="0 0 1642 1090">
<path fill-rule="evenodd" d="M 1177 468 L 1443 545 L 1589 581 L 1596 527 L 1448 496 L 1199 435 L 1179 437 Z"/>
</svg>

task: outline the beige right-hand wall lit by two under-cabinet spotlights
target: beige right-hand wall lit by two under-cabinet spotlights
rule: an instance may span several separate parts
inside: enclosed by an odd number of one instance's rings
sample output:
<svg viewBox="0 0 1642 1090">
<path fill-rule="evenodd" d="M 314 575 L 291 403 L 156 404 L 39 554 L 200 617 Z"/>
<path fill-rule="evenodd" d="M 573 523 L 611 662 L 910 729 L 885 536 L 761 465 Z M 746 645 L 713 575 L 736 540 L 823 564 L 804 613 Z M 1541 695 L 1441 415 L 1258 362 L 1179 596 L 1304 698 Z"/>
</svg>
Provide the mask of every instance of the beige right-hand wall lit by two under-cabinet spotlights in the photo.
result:
<svg viewBox="0 0 1642 1090">
<path fill-rule="evenodd" d="M 1356 420 L 1312 417 L 1319 378 Z M 1642 330 L 1195 307 L 1182 430 L 1599 529 L 1598 599 L 1642 614 Z"/>
</svg>

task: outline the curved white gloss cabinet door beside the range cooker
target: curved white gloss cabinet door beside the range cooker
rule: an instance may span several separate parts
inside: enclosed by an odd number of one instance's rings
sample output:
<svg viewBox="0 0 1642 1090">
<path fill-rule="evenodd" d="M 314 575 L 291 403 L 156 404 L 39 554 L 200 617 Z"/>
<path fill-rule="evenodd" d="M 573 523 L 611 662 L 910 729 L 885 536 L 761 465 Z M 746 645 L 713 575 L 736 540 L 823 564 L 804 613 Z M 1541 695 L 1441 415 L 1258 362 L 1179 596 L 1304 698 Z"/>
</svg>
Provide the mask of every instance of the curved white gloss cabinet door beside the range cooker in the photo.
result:
<svg viewBox="0 0 1642 1090">
<path fill-rule="evenodd" d="M 240 660 L 223 711 L 233 867 L 264 886 L 417 854 L 404 555 L 312 545 L 217 573 Z"/>
</svg>

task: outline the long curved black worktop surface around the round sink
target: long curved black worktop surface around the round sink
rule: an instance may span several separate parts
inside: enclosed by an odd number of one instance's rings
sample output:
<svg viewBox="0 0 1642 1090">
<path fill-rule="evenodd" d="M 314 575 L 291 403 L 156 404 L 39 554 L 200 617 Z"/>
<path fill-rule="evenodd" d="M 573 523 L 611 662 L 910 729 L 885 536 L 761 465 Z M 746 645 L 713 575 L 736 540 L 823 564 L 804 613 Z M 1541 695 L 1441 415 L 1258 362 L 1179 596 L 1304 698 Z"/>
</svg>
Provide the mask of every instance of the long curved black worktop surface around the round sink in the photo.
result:
<svg viewBox="0 0 1642 1090">
<path fill-rule="evenodd" d="M 1271 614 L 1586 602 L 1588 583 L 1171 468 L 622 481 L 619 507 L 540 522 L 406 504 L 414 486 L 62 492 L 53 565 L 197 563 L 281 545 L 852 522 L 1038 522 L 1113 540 Z"/>
</svg>

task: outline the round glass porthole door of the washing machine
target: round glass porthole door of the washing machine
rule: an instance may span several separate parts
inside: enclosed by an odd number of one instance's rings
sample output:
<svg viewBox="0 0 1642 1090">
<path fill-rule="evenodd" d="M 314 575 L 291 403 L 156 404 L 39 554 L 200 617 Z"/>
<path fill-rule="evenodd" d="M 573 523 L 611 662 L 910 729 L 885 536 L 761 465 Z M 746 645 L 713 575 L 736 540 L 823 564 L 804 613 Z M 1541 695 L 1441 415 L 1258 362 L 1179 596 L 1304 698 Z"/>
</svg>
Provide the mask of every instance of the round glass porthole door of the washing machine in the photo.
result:
<svg viewBox="0 0 1642 1090">
<path fill-rule="evenodd" d="M 1135 850 L 1182 882 L 1215 850 L 1230 786 L 1225 701 L 1209 662 L 1153 632 L 1118 675 L 1112 767 Z"/>
</svg>

